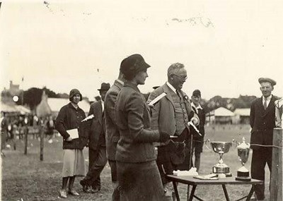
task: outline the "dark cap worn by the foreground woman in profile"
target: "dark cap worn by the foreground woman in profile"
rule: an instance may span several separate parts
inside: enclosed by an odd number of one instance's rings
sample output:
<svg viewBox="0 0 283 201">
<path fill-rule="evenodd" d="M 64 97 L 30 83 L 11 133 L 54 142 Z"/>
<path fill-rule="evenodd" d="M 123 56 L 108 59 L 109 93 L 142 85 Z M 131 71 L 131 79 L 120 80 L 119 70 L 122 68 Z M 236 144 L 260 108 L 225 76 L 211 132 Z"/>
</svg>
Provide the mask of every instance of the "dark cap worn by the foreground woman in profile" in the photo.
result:
<svg viewBox="0 0 283 201">
<path fill-rule="evenodd" d="M 120 71 L 125 75 L 127 80 L 132 80 L 137 73 L 149 67 L 149 64 L 144 61 L 144 58 L 140 54 L 133 54 L 123 59 L 120 65 Z"/>
</svg>

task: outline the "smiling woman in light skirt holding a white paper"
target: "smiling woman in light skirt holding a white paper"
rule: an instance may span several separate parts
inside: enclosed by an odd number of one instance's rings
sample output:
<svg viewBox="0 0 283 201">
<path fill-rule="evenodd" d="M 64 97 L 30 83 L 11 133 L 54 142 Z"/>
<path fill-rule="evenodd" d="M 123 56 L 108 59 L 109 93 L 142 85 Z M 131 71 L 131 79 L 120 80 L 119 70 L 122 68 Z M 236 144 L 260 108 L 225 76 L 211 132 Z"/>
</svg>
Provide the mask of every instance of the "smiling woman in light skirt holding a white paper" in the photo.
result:
<svg viewBox="0 0 283 201">
<path fill-rule="evenodd" d="M 62 171 L 62 189 L 60 197 L 70 195 L 78 196 L 74 189 L 76 176 L 86 176 L 86 168 L 83 157 L 83 132 L 80 128 L 81 121 L 86 118 L 84 111 L 78 104 L 82 100 L 81 92 L 73 89 L 69 94 L 69 104 L 63 106 L 57 116 L 55 128 L 63 137 L 63 171 Z M 67 184 L 69 188 L 67 191 Z"/>
</svg>

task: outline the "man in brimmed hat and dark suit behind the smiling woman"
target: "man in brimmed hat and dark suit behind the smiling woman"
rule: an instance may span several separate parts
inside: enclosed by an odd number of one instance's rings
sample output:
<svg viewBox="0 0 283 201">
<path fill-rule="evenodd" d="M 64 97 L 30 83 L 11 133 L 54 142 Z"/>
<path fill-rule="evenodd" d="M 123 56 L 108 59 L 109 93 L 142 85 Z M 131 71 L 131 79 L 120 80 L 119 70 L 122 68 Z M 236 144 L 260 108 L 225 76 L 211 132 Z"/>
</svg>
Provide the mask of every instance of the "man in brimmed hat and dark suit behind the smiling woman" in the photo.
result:
<svg viewBox="0 0 283 201">
<path fill-rule="evenodd" d="M 109 90 L 109 83 L 102 83 L 98 89 L 101 100 L 91 104 L 88 115 L 93 115 L 91 130 L 88 137 L 88 173 L 80 181 L 83 191 L 86 193 L 96 193 L 100 190 L 100 173 L 107 163 L 105 147 L 105 107 L 104 99 Z"/>
</svg>

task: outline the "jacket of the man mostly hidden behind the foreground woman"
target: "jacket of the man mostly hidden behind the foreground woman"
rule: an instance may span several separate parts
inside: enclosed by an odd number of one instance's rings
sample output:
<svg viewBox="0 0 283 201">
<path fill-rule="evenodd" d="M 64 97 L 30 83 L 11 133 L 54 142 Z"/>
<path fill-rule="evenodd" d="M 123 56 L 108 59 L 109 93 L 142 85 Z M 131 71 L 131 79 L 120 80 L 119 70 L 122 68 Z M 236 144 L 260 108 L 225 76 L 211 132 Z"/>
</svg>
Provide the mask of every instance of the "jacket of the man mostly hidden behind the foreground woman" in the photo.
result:
<svg viewBox="0 0 283 201">
<path fill-rule="evenodd" d="M 119 130 L 115 122 L 115 103 L 122 83 L 115 80 L 105 96 L 105 118 L 106 118 L 106 151 L 108 159 L 115 161 L 117 142 L 120 139 Z"/>
</svg>

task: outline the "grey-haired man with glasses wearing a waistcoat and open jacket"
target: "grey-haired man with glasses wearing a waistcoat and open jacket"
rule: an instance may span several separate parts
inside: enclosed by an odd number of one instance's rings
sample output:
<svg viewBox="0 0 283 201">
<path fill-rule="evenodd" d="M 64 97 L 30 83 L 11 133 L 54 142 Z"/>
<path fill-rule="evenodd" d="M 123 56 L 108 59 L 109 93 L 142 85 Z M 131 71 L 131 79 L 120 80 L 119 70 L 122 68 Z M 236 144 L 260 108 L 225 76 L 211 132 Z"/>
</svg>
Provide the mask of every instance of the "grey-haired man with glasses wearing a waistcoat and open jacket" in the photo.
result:
<svg viewBox="0 0 283 201">
<path fill-rule="evenodd" d="M 185 146 L 190 145 L 189 121 L 199 123 L 199 118 L 192 110 L 190 99 L 181 89 L 187 80 L 187 71 L 182 63 L 173 63 L 168 68 L 168 81 L 151 92 L 148 102 L 165 93 L 151 108 L 151 128 L 174 136 L 172 140 L 158 144 L 157 166 L 166 195 L 166 200 L 172 200 L 172 185 L 166 174 L 173 174 L 173 170 L 185 159 Z M 190 167 L 188 167 L 190 168 Z"/>
</svg>

